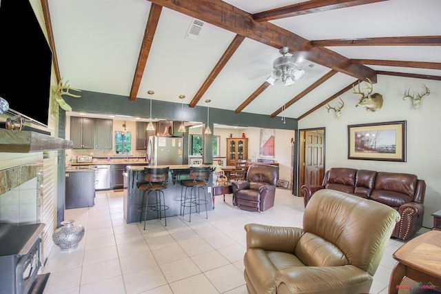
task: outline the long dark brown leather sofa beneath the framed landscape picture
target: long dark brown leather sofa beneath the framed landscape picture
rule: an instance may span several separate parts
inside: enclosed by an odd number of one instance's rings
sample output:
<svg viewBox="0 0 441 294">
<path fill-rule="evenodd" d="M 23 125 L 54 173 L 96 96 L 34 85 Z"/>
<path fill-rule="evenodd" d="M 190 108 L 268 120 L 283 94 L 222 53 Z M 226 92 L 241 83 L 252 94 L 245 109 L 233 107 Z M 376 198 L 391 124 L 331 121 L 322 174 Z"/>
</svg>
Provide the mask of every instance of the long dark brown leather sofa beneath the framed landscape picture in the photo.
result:
<svg viewBox="0 0 441 294">
<path fill-rule="evenodd" d="M 407 240 L 422 228 L 426 183 L 416 175 L 354 168 L 331 168 L 321 186 L 303 185 L 305 207 L 316 191 L 339 190 L 391 206 L 400 213 L 392 237 Z"/>
</svg>

